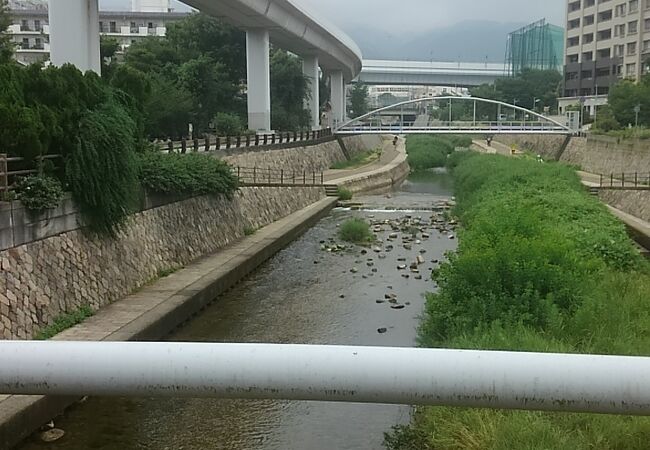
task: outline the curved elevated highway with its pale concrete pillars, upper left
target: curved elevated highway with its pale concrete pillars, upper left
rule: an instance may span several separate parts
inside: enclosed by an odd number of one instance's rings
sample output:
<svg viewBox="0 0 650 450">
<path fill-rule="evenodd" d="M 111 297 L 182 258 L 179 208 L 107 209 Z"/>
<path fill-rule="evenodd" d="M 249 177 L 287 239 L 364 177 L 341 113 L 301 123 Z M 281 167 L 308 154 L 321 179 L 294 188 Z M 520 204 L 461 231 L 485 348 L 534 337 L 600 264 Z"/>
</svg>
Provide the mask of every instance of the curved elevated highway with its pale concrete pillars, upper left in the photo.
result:
<svg viewBox="0 0 650 450">
<path fill-rule="evenodd" d="M 319 68 L 330 77 L 334 123 L 345 119 L 345 84 L 359 74 L 362 64 L 361 51 L 345 33 L 293 0 L 183 2 L 246 31 L 250 129 L 271 128 L 270 42 L 303 59 L 303 73 L 312 80 L 306 107 L 314 128 L 320 128 Z M 98 0 L 50 0 L 49 15 L 52 63 L 72 63 L 99 73 Z"/>
</svg>

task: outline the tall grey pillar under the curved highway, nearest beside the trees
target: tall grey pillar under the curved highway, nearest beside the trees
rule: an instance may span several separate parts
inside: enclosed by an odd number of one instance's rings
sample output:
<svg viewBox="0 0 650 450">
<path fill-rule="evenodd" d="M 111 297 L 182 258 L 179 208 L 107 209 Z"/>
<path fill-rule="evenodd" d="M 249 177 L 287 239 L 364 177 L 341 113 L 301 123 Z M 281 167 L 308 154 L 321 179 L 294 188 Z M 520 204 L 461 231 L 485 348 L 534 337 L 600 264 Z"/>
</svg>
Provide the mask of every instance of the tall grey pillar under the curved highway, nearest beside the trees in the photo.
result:
<svg viewBox="0 0 650 450">
<path fill-rule="evenodd" d="M 248 78 L 248 128 L 260 133 L 271 131 L 271 69 L 269 32 L 246 31 L 246 71 Z"/>
</svg>

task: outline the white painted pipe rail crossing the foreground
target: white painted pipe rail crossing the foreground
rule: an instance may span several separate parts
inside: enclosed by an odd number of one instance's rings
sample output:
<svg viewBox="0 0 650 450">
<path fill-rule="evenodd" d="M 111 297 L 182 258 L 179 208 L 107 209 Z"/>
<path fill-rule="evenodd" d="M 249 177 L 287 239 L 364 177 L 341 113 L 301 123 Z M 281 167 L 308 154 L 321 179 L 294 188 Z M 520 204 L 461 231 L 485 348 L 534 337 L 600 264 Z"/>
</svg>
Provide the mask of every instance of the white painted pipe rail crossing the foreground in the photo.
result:
<svg viewBox="0 0 650 450">
<path fill-rule="evenodd" d="M 650 358 L 387 347 L 0 341 L 0 392 L 650 415 Z"/>
</svg>

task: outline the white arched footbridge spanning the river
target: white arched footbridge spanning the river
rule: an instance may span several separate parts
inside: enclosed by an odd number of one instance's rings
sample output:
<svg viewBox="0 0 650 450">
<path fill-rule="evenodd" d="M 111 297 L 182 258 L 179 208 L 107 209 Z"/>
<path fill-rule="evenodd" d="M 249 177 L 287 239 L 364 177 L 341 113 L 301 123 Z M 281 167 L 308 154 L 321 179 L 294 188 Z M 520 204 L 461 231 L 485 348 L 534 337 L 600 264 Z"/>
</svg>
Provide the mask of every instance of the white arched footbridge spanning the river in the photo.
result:
<svg viewBox="0 0 650 450">
<path fill-rule="evenodd" d="M 429 110 L 426 107 L 428 104 L 434 108 Z M 441 105 L 447 110 L 441 109 Z M 444 111 L 445 117 L 433 118 L 430 111 L 436 110 Z M 494 135 L 578 132 L 568 125 L 517 105 L 460 96 L 428 97 L 396 103 L 342 123 L 335 130 L 336 134 Z"/>
</svg>

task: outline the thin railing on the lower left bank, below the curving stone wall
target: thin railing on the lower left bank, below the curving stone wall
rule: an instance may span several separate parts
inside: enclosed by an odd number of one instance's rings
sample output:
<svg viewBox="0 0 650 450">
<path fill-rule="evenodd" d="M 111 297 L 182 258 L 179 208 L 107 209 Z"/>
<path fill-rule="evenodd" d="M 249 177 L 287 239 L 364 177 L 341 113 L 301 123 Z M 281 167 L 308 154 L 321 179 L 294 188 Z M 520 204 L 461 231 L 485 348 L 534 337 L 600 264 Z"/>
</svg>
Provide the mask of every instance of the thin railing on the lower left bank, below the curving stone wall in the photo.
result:
<svg viewBox="0 0 650 450">
<path fill-rule="evenodd" d="M 240 186 L 322 186 L 325 184 L 325 174 L 322 171 L 296 171 L 271 169 L 270 167 L 233 167 L 233 175 L 239 180 Z"/>
</svg>

